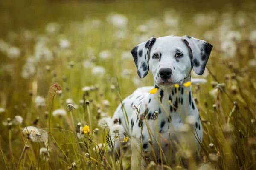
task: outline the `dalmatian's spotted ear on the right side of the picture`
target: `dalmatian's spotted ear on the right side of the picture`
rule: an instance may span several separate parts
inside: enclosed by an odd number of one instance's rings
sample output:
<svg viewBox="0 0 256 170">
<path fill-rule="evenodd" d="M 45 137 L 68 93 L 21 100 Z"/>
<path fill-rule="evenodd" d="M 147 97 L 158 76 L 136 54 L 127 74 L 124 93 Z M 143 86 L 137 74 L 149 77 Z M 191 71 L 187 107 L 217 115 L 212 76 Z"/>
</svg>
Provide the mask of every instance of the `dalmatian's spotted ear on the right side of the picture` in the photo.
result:
<svg viewBox="0 0 256 170">
<path fill-rule="evenodd" d="M 209 42 L 186 35 L 181 38 L 189 47 L 193 70 L 196 74 L 202 75 L 204 73 L 205 65 L 209 59 L 213 46 Z"/>
</svg>

